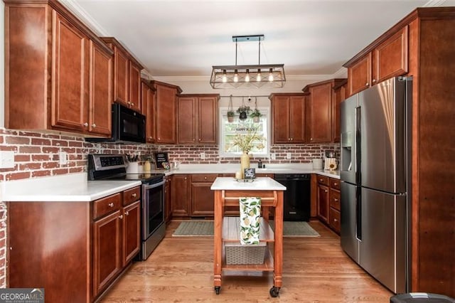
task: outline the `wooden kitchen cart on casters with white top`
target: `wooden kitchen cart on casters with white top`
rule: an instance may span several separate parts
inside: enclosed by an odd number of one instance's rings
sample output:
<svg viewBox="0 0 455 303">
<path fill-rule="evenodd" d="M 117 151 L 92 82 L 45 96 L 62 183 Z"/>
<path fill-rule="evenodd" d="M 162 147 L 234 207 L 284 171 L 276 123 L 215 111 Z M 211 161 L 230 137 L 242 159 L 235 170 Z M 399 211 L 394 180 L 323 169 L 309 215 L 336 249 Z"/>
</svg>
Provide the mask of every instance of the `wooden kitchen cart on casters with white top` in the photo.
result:
<svg viewBox="0 0 455 303">
<path fill-rule="evenodd" d="M 214 259 L 213 259 L 213 285 L 216 294 L 220 293 L 221 277 L 223 271 L 273 271 L 274 285 L 270 295 L 277 297 L 282 287 L 283 270 L 283 191 L 285 186 L 271 178 L 257 178 L 254 182 L 237 182 L 231 177 L 218 177 L 213 182 L 211 189 L 215 192 L 214 209 Z M 227 265 L 225 257 L 225 243 L 237 242 L 239 235 L 232 235 L 230 218 L 223 218 L 225 206 L 239 206 L 240 197 L 260 197 L 262 230 L 260 242 L 274 243 L 273 256 L 268 251 L 264 263 L 259 265 Z M 274 232 L 268 226 L 269 212 L 274 208 Z"/>
</svg>

